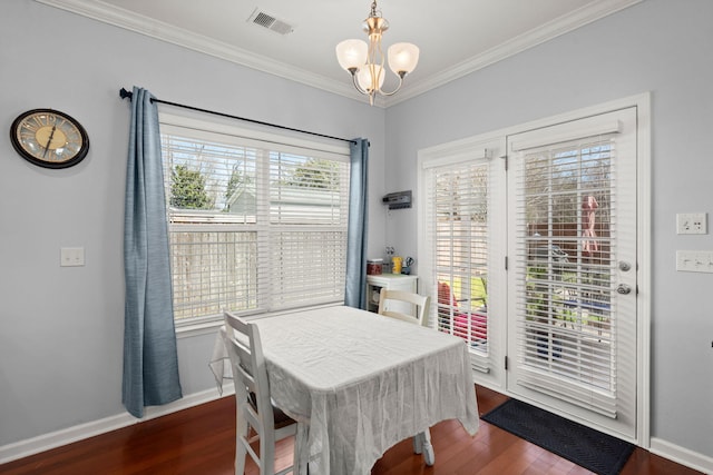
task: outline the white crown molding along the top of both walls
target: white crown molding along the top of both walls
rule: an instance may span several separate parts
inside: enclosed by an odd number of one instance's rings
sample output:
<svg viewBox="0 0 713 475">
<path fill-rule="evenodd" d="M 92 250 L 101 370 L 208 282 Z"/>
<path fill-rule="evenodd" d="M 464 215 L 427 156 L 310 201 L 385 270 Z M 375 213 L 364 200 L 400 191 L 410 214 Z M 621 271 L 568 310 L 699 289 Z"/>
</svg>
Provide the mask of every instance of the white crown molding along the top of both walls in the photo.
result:
<svg viewBox="0 0 713 475">
<path fill-rule="evenodd" d="M 150 38 L 192 49 L 226 61 L 242 65 L 262 72 L 300 82 L 328 92 L 364 101 L 351 81 L 335 81 L 304 69 L 295 68 L 272 59 L 254 55 L 235 46 L 216 41 L 202 34 L 174 27 L 172 24 L 147 19 L 128 10 L 115 7 L 100 0 L 35 0 L 39 3 L 56 7 L 81 14 L 94 20 L 124 28 Z M 448 68 L 423 80 L 409 82 L 408 87 L 395 96 L 377 97 L 375 106 L 388 108 L 443 86 L 450 81 L 468 76 L 490 65 L 522 52 L 537 44 L 557 38 L 585 24 L 592 23 L 608 14 L 639 3 L 643 0 L 600 0 L 592 2 L 568 14 L 559 17 L 543 27 L 522 33 L 481 55 L 469 58 L 452 68 Z"/>
</svg>

